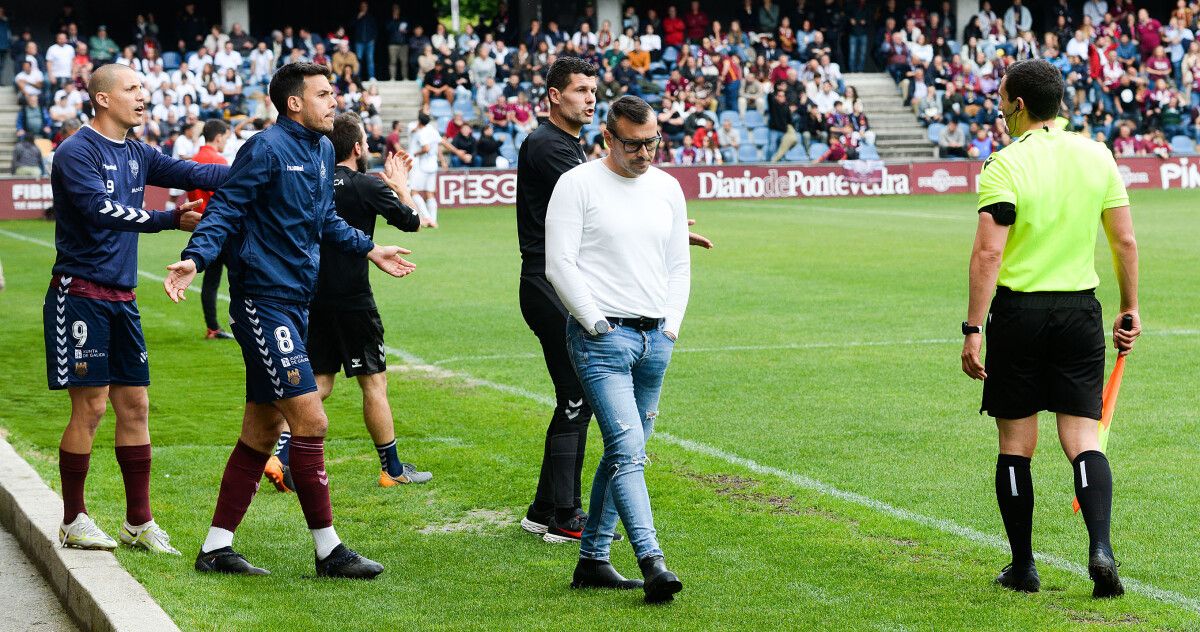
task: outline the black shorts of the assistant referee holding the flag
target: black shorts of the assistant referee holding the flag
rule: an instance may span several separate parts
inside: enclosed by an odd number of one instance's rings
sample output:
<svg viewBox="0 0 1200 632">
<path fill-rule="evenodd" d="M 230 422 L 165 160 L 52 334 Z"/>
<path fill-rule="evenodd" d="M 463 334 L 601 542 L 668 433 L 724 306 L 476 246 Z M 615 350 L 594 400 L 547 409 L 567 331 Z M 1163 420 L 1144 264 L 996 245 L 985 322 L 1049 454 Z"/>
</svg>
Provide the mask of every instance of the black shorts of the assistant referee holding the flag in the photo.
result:
<svg viewBox="0 0 1200 632">
<path fill-rule="evenodd" d="M 979 413 L 1024 419 L 1049 410 L 1100 419 L 1104 323 L 1093 290 L 997 288 L 986 329 Z"/>
</svg>

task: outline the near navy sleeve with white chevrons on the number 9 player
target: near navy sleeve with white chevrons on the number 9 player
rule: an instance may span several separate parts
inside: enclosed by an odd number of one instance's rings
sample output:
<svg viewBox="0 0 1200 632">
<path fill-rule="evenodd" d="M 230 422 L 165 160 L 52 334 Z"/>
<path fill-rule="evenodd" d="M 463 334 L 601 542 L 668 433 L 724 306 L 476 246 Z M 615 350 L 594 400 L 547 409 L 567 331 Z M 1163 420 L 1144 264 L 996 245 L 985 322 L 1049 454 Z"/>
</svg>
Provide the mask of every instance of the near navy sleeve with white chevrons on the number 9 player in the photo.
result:
<svg viewBox="0 0 1200 632">
<path fill-rule="evenodd" d="M 113 201 L 107 179 L 101 173 L 103 158 L 94 155 L 85 143 L 60 145 L 54 156 L 54 170 L 67 201 L 91 224 L 128 233 L 158 233 L 179 228 L 175 211 L 146 211 Z"/>
</svg>

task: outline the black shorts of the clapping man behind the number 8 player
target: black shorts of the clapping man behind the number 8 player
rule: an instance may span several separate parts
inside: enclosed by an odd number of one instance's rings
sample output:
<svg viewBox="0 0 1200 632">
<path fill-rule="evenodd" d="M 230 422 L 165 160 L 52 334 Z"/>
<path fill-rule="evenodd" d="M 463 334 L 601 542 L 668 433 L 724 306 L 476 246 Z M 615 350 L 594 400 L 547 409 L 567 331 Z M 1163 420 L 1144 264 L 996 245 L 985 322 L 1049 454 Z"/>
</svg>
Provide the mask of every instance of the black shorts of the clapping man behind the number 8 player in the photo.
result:
<svg viewBox="0 0 1200 632">
<path fill-rule="evenodd" d="M 317 375 L 373 375 L 388 369 L 379 311 L 313 307 L 308 313 L 308 361 Z"/>
</svg>

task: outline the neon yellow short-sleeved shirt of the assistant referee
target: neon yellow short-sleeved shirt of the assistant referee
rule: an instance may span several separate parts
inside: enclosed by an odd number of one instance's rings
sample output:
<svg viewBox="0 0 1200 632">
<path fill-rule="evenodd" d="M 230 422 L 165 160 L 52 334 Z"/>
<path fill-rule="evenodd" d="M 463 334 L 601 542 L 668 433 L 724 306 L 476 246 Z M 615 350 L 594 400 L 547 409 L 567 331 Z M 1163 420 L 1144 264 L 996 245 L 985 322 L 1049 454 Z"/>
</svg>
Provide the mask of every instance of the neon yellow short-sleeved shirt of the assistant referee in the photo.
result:
<svg viewBox="0 0 1200 632">
<path fill-rule="evenodd" d="M 1100 213 L 1127 206 L 1129 194 L 1104 144 L 1037 127 L 984 161 L 978 207 L 997 203 L 1016 207 L 997 284 L 1015 291 L 1078 291 L 1100 283 Z"/>
</svg>

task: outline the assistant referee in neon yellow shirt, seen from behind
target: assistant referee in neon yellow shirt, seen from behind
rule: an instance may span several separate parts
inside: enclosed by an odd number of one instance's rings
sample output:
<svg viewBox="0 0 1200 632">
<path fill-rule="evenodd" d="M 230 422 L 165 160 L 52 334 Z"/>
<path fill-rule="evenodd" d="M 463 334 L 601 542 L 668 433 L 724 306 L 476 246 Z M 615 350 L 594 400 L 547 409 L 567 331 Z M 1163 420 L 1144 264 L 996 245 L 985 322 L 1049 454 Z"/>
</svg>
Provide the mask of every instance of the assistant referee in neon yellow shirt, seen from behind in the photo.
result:
<svg viewBox="0 0 1200 632">
<path fill-rule="evenodd" d="M 1122 355 L 1141 332 L 1138 243 L 1112 154 L 1054 124 L 1063 88 L 1062 74 L 1043 60 L 1014 64 L 1000 84 L 1001 114 L 1016 140 L 992 154 L 979 174 L 962 372 L 984 380 L 980 413 L 995 417 L 1000 429 L 996 500 L 1013 558 L 996 583 L 1025 592 L 1040 588 L 1030 459 L 1037 415 L 1049 410 L 1087 525 L 1092 596 L 1115 597 L 1124 589 L 1109 542 L 1112 473 L 1097 432 L 1105 348 L 1094 294 L 1097 229 L 1103 223 L 1121 289 L 1112 337 Z M 1133 329 L 1123 331 L 1127 314 Z M 980 363 L 985 317 L 988 357 Z"/>
</svg>

